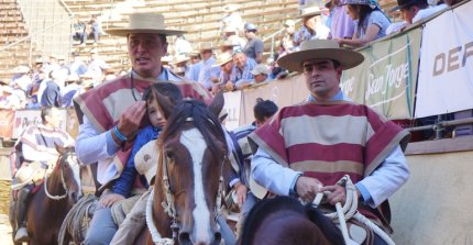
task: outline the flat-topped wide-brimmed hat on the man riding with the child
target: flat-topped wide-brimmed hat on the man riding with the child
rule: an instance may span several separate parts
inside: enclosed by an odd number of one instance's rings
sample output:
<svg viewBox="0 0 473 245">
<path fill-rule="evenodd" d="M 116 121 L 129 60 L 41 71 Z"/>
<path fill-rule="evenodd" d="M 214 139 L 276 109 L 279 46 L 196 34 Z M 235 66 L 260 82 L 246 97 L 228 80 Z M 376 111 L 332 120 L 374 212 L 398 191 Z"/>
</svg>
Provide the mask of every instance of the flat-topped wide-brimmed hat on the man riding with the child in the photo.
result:
<svg viewBox="0 0 473 245">
<path fill-rule="evenodd" d="M 128 27 L 105 30 L 110 35 L 128 36 L 131 33 L 151 33 L 162 35 L 178 35 L 185 33 L 178 30 L 168 30 L 161 13 L 132 13 Z"/>
</svg>

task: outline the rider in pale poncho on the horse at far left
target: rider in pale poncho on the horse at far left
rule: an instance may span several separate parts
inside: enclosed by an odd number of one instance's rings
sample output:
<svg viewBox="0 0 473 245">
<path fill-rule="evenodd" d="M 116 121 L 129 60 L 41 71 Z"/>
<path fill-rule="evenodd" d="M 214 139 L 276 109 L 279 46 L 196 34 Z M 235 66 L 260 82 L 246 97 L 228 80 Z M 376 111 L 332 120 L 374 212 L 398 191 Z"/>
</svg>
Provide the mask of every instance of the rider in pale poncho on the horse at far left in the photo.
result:
<svg viewBox="0 0 473 245">
<path fill-rule="evenodd" d="M 10 164 L 12 196 L 15 205 L 14 219 L 16 233 L 14 242 L 26 242 L 26 208 L 30 192 L 40 185 L 50 165 L 57 162 L 55 145 L 74 146 L 74 138 L 61 125 L 61 111 L 46 107 L 41 111 L 42 123 L 30 125 L 16 141 L 11 154 Z M 52 169 L 52 168 L 50 168 Z"/>
</svg>

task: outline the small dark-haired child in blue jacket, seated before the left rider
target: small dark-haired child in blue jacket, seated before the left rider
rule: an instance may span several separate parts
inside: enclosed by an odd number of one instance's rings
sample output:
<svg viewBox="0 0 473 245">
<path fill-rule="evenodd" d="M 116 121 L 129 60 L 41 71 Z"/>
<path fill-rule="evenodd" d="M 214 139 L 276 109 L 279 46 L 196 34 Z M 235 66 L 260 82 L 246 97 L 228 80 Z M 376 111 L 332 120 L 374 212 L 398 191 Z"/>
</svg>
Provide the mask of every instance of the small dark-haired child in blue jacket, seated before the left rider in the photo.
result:
<svg viewBox="0 0 473 245">
<path fill-rule="evenodd" d="M 97 214 L 100 216 L 100 219 L 94 219 L 90 227 L 87 232 L 86 236 L 86 244 L 90 242 L 91 244 L 95 244 L 95 242 L 105 242 L 105 237 L 101 236 L 103 230 L 100 227 L 114 227 L 114 230 L 118 230 L 118 226 L 121 225 L 123 222 L 125 215 L 135 205 L 135 202 L 139 200 L 139 198 L 142 196 L 144 188 L 142 188 L 142 191 L 133 192 L 132 189 L 135 181 L 140 181 L 142 187 L 150 187 L 152 183 L 152 179 L 143 179 L 143 175 L 139 175 L 136 168 L 135 168 L 135 156 L 139 155 L 140 149 L 147 145 L 152 144 L 152 142 L 155 143 L 154 140 L 157 138 L 162 127 L 165 124 L 165 119 L 162 116 L 158 110 L 156 98 L 153 96 L 153 89 L 155 89 L 161 94 L 167 97 L 173 103 L 177 103 L 183 99 L 183 96 L 180 93 L 180 90 L 177 86 L 170 82 L 157 82 L 153 86 L 150 86 L 143 93 L 143 100 L 146 102 L 146 115 L 148 119 L 148 125 L 140 130 L 136 134 L 136 138 L 133 143 L 131 155 L 127 162 L 127 166 L 123 169 L 120 177 L 114 181 L 111 191 L 105 192 L 102 194 L 102 198 L 100 199 L 99 205 L 101 208 L 110 208 L 109 212 L 96 212 L 94 215 Z M 157 162 L 154 164 L 157 165 Z M 140 172 L 144 174 L 144 172 Z M 141 202 L 138 202 L 141 203 Z M 144 207 L 143 207 L 144 210 Z M 144 213 L 144 212 L 143 212 Z M 130 223 L 129 223 L 130 224 Z M 131 230 L 127 231 L 127 234 L 123 236 L 119 236 L 118 238 L 122 240 L 129 240 L 131 237 L 134 237 L 133 235 L 130 235 L 133 233 L 133 231 L 136 231 L 139 234 L 141 232 L 142 226 L 135 225 L 134 223 L 132 225 L 125 225 L 127 227 L 130 227 Z M 138 235 L 136 234 L 136 235 Z M 99 241 L 97 241 L 99 240 Z M 102 241 L 103 240 L 103 241 Z M 110 237 L 111 240 L 111 237 Z M 110 241 L 108 241 L 110 242 Z M 107 243 L 108 243 L 107 242 Z M 133 240 L 130 243 L 121 243 L 121 244 L 131 244 Z"/>
</svg>

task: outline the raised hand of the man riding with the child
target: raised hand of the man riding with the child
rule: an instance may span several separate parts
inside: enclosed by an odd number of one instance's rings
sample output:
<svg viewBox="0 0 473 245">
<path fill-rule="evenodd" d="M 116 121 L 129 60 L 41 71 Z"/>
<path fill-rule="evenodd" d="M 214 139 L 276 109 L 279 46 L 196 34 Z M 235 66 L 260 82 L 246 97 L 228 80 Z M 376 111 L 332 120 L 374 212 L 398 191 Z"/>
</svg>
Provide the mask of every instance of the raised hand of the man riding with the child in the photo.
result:
<svg viewBox="0 0 473 245">
<path fill-rule="evenodd" d="M 141 120 L 146 113 L 146 102 L 136 101 L 129 107 L 121 115 L 118 124 L 118 130 L 125 137 L 132 135 L 140 127 Z"/>
</svg>

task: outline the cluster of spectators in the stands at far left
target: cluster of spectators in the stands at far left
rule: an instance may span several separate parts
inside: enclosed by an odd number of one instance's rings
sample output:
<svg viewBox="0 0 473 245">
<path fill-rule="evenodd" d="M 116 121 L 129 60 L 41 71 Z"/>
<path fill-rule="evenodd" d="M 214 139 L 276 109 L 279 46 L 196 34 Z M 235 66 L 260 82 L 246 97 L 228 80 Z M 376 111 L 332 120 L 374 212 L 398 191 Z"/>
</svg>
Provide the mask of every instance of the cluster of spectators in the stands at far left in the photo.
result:
<svg viewBox="0 0 473 245">
<path fill-rule="evenodd" d="M 11 80 L 0 80 L 0 109 L 72 107 L 74 97 L 116 77 L 96 49 L 90 51 L 88 60 L 78 56 L 77 52 L 72 53 L 66 64 L 65 56 L 50 55 L 47 60 L 37 57 L 33 68 L 15 67 Z"/>
</svg>

